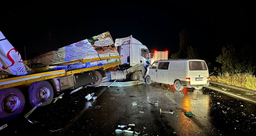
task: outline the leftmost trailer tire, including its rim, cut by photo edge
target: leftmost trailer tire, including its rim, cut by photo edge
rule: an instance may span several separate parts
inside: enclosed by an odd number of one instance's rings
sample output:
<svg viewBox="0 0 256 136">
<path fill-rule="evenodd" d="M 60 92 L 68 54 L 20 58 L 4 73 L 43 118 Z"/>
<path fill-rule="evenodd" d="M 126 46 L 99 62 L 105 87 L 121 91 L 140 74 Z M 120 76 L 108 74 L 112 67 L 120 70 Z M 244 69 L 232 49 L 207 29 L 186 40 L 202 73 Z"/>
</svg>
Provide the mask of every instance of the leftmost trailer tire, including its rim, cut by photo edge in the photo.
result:
<svg viewBox="0 0 256 136">
<path fill-rule="evenodd" d="M 15 87 L 0 90 L 0 119 L 15 118 L 25 106 L 25 97 Z"/>
</svg>

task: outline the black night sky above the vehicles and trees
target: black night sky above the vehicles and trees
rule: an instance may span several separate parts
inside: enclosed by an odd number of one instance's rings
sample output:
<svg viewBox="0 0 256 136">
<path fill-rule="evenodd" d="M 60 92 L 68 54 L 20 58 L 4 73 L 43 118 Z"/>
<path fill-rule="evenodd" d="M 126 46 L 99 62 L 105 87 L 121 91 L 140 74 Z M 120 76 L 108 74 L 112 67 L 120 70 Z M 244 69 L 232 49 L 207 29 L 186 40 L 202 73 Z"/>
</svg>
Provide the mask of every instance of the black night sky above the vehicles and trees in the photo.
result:
<svg viewBox="0 0 256 136">
<path fill-rule="evenodd" d="M 179 33 L 189 33 L 200 59 L 215 61 L 222 46 L 253 44 L 250 3 L 75 2 L 1 3 L 0 31 L 25 60 L 109 31 L 113 40 L 130 35 L 148 49 L 179 50 Z"/>
</svg>

